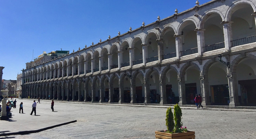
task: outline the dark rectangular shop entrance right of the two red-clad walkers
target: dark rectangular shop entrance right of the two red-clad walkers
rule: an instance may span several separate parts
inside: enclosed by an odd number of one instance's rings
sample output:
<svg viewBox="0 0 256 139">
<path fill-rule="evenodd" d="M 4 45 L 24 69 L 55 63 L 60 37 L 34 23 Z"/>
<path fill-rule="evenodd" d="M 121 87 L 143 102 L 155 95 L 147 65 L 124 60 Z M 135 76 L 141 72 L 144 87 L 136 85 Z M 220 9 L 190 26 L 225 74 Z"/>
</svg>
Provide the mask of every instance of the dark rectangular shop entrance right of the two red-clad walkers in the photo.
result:
<svg viewBox="0 0 256 139">
<path fill-rule="evenodd" d="M 228 84 L 211 85 L 210 88 L 212 105 L 228 105 L 230 103 Z"/>
</svg>

